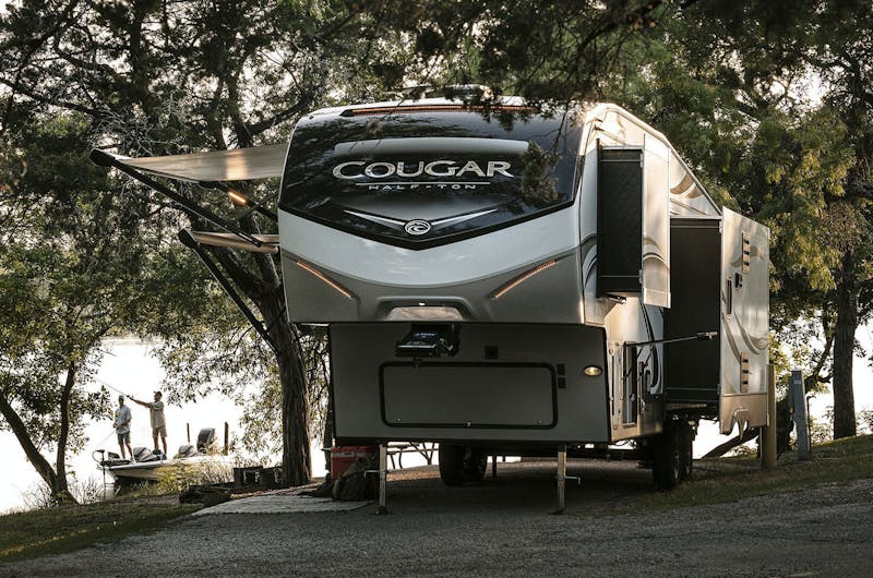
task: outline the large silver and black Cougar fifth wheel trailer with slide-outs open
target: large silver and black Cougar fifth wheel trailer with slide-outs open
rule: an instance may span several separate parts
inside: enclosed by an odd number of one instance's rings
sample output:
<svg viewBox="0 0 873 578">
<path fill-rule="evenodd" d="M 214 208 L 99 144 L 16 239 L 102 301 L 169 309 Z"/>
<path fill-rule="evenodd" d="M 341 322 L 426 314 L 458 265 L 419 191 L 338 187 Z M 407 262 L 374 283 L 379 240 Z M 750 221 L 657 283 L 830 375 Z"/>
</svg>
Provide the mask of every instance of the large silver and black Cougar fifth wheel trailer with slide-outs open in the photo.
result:
<svg viewBox="0 0 873 578">
<path fill-rule="evenodd" d="M 671 487 L 701 419 L 767 425 L 769 231 L 618 106 L 366 104 L 310 113 L 287 154 L 97 160 L 282 176 L 287 316 L 327 327 L 340 444 L 439 442 L 461 484 L 488 455 L 631 441 Z"/>
</svg>

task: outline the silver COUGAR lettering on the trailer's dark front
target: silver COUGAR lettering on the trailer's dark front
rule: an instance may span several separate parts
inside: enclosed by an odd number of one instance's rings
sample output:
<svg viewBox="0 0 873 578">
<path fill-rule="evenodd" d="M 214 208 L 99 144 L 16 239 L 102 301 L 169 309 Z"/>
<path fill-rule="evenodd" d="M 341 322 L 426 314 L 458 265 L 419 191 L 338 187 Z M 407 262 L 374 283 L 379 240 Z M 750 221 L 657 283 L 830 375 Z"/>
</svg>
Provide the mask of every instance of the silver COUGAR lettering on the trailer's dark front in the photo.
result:
<svg viewBox="0 0 873 578">
<path fill-rule="evenodd" d="M 421 174 L 430 177 L 463 177 L 467 174 L 481 178 L 503 174 L 504 177 L 513 178 L 513 174 L 509 171 L 511 167 L 512 162 L 506 160 L 489 160 L 485 169 L 475 160 L 432 160 L 430 162 L 424 162 L 423 160 L 418 162 L 398 160 L 394 162 L 376 161 L 369 165 L 363 160 L 348 160 L 334 167 L 333 174 L 337 179 L 360 179 L 361 177 L 384 179 L 395 176 L 411 179 Z"/>
</svg>

